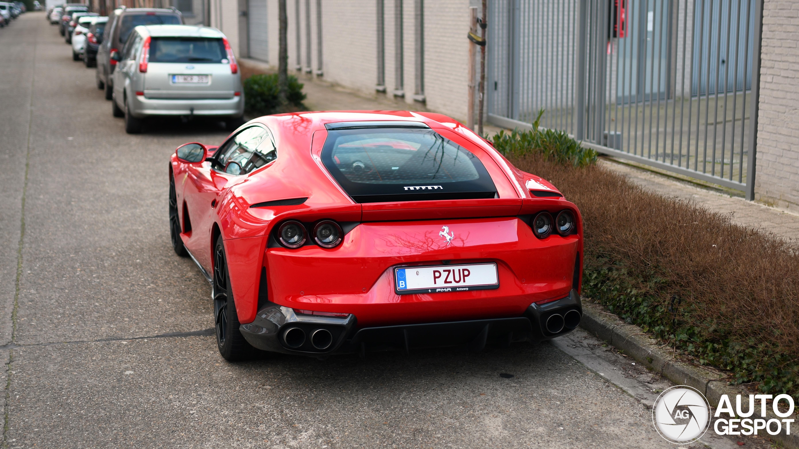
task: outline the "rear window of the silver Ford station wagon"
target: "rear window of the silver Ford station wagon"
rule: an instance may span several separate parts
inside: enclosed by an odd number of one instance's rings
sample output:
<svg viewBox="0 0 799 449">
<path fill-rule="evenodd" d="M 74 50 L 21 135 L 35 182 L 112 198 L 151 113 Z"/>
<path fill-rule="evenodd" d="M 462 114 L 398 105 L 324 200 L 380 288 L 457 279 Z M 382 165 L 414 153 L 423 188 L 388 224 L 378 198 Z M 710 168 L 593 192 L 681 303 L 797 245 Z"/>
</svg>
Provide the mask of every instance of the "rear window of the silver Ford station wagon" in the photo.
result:
<svg viewBox="0 0 799 449">
<path fill-rule="evenodd" d="M 198 62 L 219 64 L 228 53 L 221 39 L 204 37 L 153 37 L 150 62 Z"/>
</svg>

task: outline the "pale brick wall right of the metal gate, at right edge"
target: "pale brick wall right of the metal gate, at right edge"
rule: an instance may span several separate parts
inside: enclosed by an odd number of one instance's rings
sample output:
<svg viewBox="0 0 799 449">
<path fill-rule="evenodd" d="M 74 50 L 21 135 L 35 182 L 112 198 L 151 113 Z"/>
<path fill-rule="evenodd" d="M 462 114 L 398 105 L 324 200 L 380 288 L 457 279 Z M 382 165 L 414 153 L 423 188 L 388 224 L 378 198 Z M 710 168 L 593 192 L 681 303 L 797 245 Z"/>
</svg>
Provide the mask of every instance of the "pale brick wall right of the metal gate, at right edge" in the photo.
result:
<svg viewBox="0 0 799 449">
<path fill-rule="evenodd" d="M 799 212 L 799 2 L 764 3 L 755 199 Z"/>
</svg>

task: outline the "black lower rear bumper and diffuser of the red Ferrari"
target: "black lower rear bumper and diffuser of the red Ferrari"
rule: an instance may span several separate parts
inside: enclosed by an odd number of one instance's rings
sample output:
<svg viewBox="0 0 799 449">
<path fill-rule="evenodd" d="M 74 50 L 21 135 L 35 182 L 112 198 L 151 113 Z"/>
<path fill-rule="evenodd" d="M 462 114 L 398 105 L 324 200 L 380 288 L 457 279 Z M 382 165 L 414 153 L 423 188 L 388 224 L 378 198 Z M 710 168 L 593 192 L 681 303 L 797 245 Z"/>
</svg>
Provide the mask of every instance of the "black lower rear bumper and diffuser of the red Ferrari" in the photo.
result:
<svg viewBox="0 0 799 449">
<path fill-rule="evenodd" d="M 565 320 L 556 329 L 557 332 L 551 332 L 555 330 L 552 322 L 557 321 L 557 317 L 562 319 L 565 316 L 570 320 Z M 481 350 L 492 344 L 544 341 L 570 332 L 578 325 L 579 317 L 582 317 L 582 302 L 577 291 L 571 290 L 569 296 L 557 301 L 530 305 L 521 317 L 365 328 L 358 328 L 354 315 L 346 318 L 300 315 L 294 313 L 293 309 L 270 303 L 258 311 L 255 321 L 241 325 L 240 331 L 258 349 L 318 357 L 392 350 L 407 352 L 411 349 L 446 346 L 467 346 L 472 350 Z M 551 330 L 547 329 L 547 323 L 551 325 Z M 330 335 L 329 346 L 321 349 L 315 347 L 311 339 L 320 329 Z M 292 335 L 304 336 L 304 340 L 287 339 L 289 331 Z M 326 342 L 323 341 L 323 345 Z"/>
</svg>

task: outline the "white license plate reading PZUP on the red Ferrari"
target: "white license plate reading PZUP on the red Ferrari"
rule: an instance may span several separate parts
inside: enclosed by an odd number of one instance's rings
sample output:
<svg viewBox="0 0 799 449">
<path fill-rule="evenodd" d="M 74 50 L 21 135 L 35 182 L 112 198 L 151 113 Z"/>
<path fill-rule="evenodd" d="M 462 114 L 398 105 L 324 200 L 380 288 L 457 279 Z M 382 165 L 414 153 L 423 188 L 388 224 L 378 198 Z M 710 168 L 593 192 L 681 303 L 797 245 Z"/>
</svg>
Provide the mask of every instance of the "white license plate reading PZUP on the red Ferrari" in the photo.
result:
<svg viewBox="0 0 799 449">
<path fill-rule="evenodd" d="M 394 269 L 395 291 L 407 293 L 465 292 L 497 289 L 497 264 L 407 266 Z"/>
</svg>

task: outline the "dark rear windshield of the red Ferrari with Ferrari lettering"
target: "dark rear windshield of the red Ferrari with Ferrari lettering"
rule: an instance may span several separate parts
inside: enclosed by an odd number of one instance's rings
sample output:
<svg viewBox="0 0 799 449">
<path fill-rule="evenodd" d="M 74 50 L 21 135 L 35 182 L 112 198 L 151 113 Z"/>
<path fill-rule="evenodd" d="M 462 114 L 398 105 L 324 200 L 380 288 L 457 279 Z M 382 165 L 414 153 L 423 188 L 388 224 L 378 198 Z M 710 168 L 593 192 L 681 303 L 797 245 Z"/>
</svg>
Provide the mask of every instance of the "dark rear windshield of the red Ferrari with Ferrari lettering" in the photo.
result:
<svg viewBox="0 0 799 449">
<path fill-rule="evenodd" d="M 358 203 L 496 195 L 477 156 L 430 128 L 332 129 L 322 161 Z"/>
</svg>

